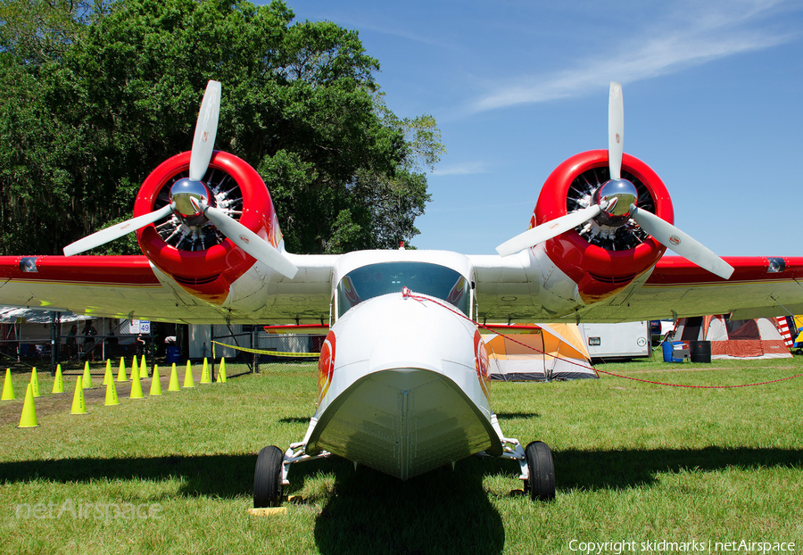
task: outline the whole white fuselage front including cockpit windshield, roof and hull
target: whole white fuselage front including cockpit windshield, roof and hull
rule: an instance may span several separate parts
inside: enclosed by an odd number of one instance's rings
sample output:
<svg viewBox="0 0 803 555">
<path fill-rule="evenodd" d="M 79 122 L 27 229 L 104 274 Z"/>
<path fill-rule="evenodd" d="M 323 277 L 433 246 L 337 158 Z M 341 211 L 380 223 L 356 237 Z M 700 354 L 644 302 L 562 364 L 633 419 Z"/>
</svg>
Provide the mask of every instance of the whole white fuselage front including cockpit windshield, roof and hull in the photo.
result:
<svg viewBox="0 0 803 555">
<path fill-rule="evenodd" d="M 344 256 L 307 454 L 328 451 L 402 479 L 479 451 L 501 454 L 487 353 L 468 318 L 470 269 L 455 253 Z"/>
</svg>

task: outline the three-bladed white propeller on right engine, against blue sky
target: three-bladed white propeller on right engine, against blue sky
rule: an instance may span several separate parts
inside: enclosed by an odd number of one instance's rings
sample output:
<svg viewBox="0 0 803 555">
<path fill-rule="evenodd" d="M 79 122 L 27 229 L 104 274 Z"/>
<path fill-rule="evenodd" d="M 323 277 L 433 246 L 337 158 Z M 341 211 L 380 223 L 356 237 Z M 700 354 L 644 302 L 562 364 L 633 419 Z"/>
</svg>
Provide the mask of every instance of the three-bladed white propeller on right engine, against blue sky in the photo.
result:
<svg viewBox="0 0 803 555">
<path fill-rule="evenodd" d="M 597 220 L 601 225 L 616 228 L 625 225 L 628 220 L 632 219 L 658 243 L 694 262 L 700 268 L 707 269 L 724 279 L 731 277 L 733 267 L 699 241 L 675 228 L 669 222 L 661 220 L 655 214 L 636 207 L 638 191 L 633 183 L 622 178 L 624 139 L 625 104 L 622 85 L 611 81 L 610 95 L 608 96 L 608 170 L 610 179 L 594 193 L 594 203 L 528 229 L 500 244 L 496 247 L 496 252 L 501 256 L 518 253 L 559 236 L 569 229 L 576 228 L 588 220 Z"/>
</svg>

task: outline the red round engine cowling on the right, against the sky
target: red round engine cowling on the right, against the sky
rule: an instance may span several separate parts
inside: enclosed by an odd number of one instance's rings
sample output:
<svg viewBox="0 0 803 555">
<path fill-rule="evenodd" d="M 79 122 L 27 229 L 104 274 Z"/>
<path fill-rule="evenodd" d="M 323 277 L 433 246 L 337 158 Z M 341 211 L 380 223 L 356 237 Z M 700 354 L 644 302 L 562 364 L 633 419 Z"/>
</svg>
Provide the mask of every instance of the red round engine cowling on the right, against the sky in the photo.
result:
<svg viewBox="0 0 803 555">
<path fill-rule="evenodd" d="M 650 167 L 625 154 L 622 177 L 639 192 L 638 207 L 673 223 L 675 211 L 666 186 Z M 579 153 L 552 171 L 544 182 L 530 227 L 554 220 L 588 205 L 596 187 L 607 181 L 608 151 Z M 666 247 L 637 226 L 600 227 L 589 222 L 581 231 L 571 229 L 543 244 L 559 269 L 577 285 L 584 302 L 595 302 L 616 293 L 650 269 Z"/>
</svg>

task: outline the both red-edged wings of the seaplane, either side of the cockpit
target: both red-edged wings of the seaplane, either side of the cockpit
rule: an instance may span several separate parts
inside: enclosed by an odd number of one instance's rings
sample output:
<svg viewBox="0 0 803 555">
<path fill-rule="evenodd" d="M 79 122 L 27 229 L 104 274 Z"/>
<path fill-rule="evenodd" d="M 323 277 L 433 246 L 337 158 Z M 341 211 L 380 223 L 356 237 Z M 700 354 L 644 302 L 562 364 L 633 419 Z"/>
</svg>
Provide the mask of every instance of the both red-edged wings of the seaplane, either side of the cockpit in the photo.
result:
<svg viewBox="0 0 803 555">
<path fill-rule="evenodd" d="M 299 273 L 277 276 L 254 264 L 227 302 L 187 293 L 145 256 L 0 257 L 0 305 L 97 317 L 187 324 L 316 324 L 328 321 L 336 256 L 293 256 Z M 803 257 L 730 257 L 724 280 L 681 257 L 599 302 L 576 302 L 575 283 L 525 251 L 469 256 L 481 323 L 621 322 L 730 313 L 734 319 L 803 313 Z M 567 308 L 574 307 L 574 308 Z"/>
</svg>

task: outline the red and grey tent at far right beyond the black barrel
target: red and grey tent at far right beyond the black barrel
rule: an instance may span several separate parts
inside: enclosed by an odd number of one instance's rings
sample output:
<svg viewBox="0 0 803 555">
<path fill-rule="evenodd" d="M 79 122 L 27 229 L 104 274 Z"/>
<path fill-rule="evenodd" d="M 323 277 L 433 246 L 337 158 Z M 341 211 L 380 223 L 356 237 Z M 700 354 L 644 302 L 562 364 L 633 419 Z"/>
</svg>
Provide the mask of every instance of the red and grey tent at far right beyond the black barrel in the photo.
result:
<svg viewBox="0 0 803 555">
<path fill-rule="evenodd" d="M 711 359 L 786 359 L 791 352 L 774 319 L 732 320 L 726 315 L 682 318 L 675 341 L 711 342 Z"/>
</svg>

